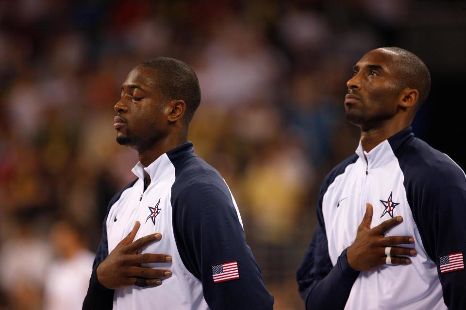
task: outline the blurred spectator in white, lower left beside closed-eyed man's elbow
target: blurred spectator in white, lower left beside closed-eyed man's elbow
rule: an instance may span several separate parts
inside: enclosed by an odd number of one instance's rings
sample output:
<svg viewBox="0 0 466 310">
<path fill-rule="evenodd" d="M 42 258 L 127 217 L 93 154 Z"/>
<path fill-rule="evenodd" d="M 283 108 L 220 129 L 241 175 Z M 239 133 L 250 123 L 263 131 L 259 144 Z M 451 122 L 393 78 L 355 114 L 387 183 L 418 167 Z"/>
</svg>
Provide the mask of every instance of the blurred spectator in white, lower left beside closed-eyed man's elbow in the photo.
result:
<svg viewBox="0 0 466 310">
<path fill-rule="evenodd" d="M 80 310 L 89 286 L 95 253 L 84 246 L 82 229 L 69 220 L 55 222 L 50 241 L 56 258 L 44 283 L 44 310 Z"/>
</svg>

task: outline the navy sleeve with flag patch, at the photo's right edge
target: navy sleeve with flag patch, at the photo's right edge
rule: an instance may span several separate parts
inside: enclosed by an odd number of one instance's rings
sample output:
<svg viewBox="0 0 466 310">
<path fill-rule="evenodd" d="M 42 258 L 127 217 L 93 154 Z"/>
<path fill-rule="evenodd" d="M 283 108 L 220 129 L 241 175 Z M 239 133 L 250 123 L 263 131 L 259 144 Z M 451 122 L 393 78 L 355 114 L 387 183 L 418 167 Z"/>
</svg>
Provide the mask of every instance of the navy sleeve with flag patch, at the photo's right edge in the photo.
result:
<svg viewBox="0 0 466 310">
<path fill-rule="evenodd" d="M 420 147 L 422 144 L 417 150 Z M 400 160 L 408 203 L 423 246 L 437 264 L 446 306 L 449 309 L 466 309 L 466 270 L 464 267 L 447 270 L 449 272 L 444 270 L 443 273 L 440 270 L 440 258 L 443 257 L 445 263 L 449 254 L 461 253 L 458 263 L 465 263 L 465 174 L 446 155 L 436 150 L 425 149 L 424 154 L 429 152 L 428 156 L 408 156 L 411 151 L 413 149 L 407 148 Z"/>
</svg>

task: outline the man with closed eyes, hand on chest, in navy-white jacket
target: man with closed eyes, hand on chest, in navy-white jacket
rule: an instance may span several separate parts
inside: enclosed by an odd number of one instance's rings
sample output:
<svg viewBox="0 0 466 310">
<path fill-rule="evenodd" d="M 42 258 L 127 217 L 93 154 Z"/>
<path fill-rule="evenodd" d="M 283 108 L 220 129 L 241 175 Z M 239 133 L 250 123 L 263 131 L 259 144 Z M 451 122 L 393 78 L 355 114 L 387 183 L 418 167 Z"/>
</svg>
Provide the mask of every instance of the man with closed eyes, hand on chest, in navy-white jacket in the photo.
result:
<svg viewBox="0 0 466 310">
<path fill-rule="evenodd" d="M 187 141 L 199 103 L 196 74 L 175 59 L 123 83 L 114 127 L 138 152 L 137 178 L 108 205 L 83 309 L 272 309 L 228 186 Z"/>
</svg>

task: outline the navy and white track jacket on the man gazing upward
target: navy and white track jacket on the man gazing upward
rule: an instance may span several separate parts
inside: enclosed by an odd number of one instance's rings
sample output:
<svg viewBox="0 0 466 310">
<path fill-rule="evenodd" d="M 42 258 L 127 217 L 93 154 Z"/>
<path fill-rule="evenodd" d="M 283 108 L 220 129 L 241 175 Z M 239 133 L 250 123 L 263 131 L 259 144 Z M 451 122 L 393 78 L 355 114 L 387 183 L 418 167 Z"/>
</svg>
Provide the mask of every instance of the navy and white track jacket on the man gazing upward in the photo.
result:
<svg viewBox="0 0 466 310">
<path fill-rule="evenodd" d="M 365 159 L 365 156 L 367 160 Z M 366 212 L 371 227 L 402 216 L 386 236 L 413 236 L 409 265 L 350 267 L 348 248 Z M 306 309 L 466 309 L 466 177 L 408 127 L 337 165 L 322 184 L 318 225 L 297 272 Z"/>
</svg>

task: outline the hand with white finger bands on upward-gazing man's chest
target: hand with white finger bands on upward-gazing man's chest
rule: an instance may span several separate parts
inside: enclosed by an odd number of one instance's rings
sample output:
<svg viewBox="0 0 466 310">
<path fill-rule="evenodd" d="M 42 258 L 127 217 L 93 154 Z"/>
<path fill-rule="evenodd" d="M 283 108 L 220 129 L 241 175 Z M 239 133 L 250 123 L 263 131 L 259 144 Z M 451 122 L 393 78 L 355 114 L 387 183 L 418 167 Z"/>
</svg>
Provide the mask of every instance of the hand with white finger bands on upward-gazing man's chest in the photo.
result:
<svg viewBox="0 0 466 310">
<path fill-rule="evenodd" d="M 414 248 L 393 247 L 399 244 L 412 244 L 414 238 L 410 236 L 388 236 L 385 233 L 390 228 L 403 221 L 402 217 L 393 217 L 380 225 L 370 228 L 372 222 L 372 205 L 366 204 L 366 214 L 358 227 L 354 243 L 347 248 L 346 257 L 351 268 L 359 271 L 370 271 L 386 263 L 385 248 L 391 247 L 392 264 L 409 264 L 411 260 L 400 256 L 414 256 Z"/>
</svg>

